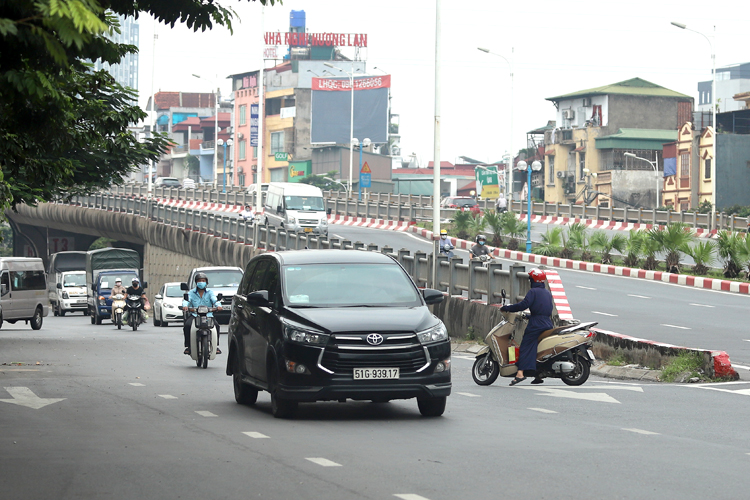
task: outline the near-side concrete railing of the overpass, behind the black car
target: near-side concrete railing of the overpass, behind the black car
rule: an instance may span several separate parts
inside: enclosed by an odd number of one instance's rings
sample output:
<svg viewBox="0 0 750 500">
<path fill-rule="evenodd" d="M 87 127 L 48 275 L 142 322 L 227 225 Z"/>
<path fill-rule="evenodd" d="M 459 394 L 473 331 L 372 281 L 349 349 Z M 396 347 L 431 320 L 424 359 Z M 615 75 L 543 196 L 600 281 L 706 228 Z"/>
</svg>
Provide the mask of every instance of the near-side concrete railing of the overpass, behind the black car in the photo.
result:
<svg viewBox="0 0 750 500">
<path fill-rule="evenodd" d="M 58 202 L 63 204 L 62 202 Z M 145 198 L 96 194 L 75 196 L 73 206 L 94 210 L 106 210 L 136 217 L 148 218 L 159 224 L 198 231 L 244 245 L 254 245 L 255 224 L 231 215 L 218 215 L 157 203 Z M 341 249 L 382 252 L 396 259 L 420 287 L 436 288 L 451 295 L 464 295 L 469 300 L 484 300 L 488 304 L 501 302 L 501 290 L 505 289 L 512 301 L 522 299 L 529 290 L 528 274 L 521 264 L 512 264 L 503 269 L 501 263 L 484 265 L 477 261 L 463 263 L 461 257 L 448 259 L 438 256 L 437 283 L 432 282 L 432 254 L 402 248 L 394 252 L 388 246 L 365 244 L 361 241 L 327 238 L 304 232 L 286 231 L 273 226 L 258 226 L 257 248 L 267 251 L 303 249 Z"/>
</svg>

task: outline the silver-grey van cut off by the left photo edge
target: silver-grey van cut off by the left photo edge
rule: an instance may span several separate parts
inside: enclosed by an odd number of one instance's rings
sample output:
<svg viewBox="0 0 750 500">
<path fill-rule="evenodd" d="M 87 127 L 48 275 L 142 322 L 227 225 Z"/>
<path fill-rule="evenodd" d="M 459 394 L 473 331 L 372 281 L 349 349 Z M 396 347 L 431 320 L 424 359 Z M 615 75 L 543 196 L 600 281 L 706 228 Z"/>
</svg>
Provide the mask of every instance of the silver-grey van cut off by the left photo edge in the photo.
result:
<svg viewBox="0 0 750 500">
<path fill-rule="evenodd" d="M 23 320 L 39 330 L 49 314 L 47 275 L 42 259 L 0 257 L 0 326 Z"/>
</svg>

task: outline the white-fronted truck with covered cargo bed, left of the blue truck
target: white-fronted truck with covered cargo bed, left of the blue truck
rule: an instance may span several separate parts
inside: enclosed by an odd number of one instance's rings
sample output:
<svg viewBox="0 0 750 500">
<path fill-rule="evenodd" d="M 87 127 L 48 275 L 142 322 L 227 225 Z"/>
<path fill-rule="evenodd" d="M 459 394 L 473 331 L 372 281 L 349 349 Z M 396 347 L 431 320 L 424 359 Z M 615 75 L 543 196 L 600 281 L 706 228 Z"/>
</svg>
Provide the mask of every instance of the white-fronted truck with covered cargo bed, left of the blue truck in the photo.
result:
<svg viewBox="0 0 750 500">
<path fill-rule="evenodd" d="M 50 255 L 47 290 L 55 316 L 65 316 L 65 313 L 74 311 L 88 314 L 86 252 L 57 252 Z"/>
</svg>

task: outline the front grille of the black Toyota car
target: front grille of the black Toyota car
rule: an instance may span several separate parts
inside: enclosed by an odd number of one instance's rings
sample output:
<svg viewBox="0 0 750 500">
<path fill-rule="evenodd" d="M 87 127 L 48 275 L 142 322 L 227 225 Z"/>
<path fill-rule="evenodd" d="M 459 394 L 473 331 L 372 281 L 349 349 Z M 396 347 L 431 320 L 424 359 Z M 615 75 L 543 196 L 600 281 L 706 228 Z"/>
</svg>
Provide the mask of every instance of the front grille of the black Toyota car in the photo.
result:
<svg viewBox="0 0 750 500">
<path fill-rule="evenodd" d="M 416 373 L 427 363 L 424 348 L 413 332 L 380 333 L 383 342 L 367 342 L 370 333 L 333 335 L 323 353 L 321 365 L 336 374 L 351 374 L 355 368 L 399 368 Z"/>
</svg>

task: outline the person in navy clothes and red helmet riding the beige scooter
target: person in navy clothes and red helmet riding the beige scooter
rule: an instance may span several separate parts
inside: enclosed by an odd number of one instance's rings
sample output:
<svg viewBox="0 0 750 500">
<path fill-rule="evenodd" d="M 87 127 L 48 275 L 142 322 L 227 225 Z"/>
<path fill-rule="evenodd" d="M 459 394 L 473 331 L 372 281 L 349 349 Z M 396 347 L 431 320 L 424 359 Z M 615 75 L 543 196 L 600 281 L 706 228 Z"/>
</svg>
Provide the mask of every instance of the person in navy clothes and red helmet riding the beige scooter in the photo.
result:
<svg viewBox="0 0 750 500">
<path fill-rule="evenodd" d="M 524 370 L 536 371 L 536 351 L 539 345 L 539 335 L 545 330 L 554 328 L 550 316 L 552 315 L 552 294 L 547 287 L 544 286 L 544 282 L 547 280 L 547 275 L 541 269 L 534 268 L 529 271 L 529 281 L 531 282 L 531 289 L 526 294 L 526 297 L 517 304 L 507 305 L 500 308 L 501 311 L 506 312 L 518 312 L 526 309 L 531 312 L 529 318 L 529 324 L 526 325 L 526 330 L 523 334 L 523 340 L 521 341 L 520 353 L 516 367 L 518 373 L 516 377 L 511 381 L 510 385 L 516 385 L 519 382 L 526 380 L 524 376 Z M 539 375 L 534 378 L 532 384 L 541 384 L 544 382 L 543 379 L 539 378 Z"/>
</svg>

